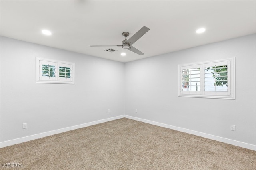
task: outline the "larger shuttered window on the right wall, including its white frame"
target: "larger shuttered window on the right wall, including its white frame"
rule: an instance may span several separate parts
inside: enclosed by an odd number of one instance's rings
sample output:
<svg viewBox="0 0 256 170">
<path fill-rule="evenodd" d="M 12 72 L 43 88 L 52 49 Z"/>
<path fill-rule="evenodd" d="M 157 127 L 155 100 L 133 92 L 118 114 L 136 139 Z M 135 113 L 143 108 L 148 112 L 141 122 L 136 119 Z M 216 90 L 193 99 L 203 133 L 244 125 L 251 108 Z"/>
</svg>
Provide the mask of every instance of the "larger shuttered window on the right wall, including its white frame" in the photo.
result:
<svg viewBox="0 0 256 170">
<path fill-rule="evenodd" d="M 235 59 L 179 65 L 179 96 L 235 99 Z"/>
</svg>

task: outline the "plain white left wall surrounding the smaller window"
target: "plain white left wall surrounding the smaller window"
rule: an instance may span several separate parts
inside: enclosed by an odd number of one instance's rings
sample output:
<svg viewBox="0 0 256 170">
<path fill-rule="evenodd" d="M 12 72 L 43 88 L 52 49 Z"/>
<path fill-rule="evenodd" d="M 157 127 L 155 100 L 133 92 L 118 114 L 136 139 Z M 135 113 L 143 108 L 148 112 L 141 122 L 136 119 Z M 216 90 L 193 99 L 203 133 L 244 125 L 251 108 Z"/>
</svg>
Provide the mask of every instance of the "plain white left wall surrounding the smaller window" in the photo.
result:
<svg viewBox="0 0 256 170">
<path fill-rule="evenodd" d="M 36 57 L 74 62 L 75 84 L 35 83 Z M 1 142 L 120 115 L 124 63 L 1 37 Z"/>
</svg>

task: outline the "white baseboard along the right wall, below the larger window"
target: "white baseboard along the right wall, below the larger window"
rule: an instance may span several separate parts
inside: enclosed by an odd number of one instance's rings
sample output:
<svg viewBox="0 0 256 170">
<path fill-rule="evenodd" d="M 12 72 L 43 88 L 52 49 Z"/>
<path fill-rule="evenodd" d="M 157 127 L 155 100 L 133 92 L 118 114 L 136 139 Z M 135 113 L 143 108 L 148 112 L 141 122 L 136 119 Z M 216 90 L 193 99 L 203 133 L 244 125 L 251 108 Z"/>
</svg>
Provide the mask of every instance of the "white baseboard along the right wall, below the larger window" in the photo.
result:
<svg viewBox="0 0 256 170">
<path fill-rule="evenodd" d="M 214 135 L 211 135 L 211 134 L 197 132 L 197 131 L 189 130 L 189 129 L 186 129 L 186 128 L 180 128 L 180 127 L 176 127 L 176 126 L 172 126 L 172 125 L 167 125 L 167 124 L 164 124 L 164 123 L 150 121 L 150 120 L 142 119 L 142 118 L 138 118 L 138 117 L 132 117 L 132 116 L 128 116 L 128 115 L 124 115 L 124 117 L 126 117 L 128 119 L 133 119 L 133 120 L 136 120 L 136 121 L 141 121 L 141 122 L 144 122 L 144 123 L 149 123 L 149 124 L 152 124 L 152 125 L 157 125 L 157 126 L 160 126 L 160 127 L 170 128 L 170 129 L 177 130 L 177 131 L 180 131 L 180 132 L 185 132 L 185 133 L 188 133 L 188 134 L 194 134 L 196 136 L 201 136 L 201 137 L 204 137 L 204 138 L 208 138 L 208 139 L 216 140 L 216 141 L 219 141 L 219 142 L 232 144 L 232 145 L 235 145 L 235 146 L 239 146 L 239 147 L 242 147 L 242 148 L 246 148 L 246 149 L 256 151 L 256 145 L 253 145 L 253 144 L 239 142 L 239 141 L 228 139 L 228 138 L 222 138 L 222 137 L 219 137 L 219 136 L 214 136 Z"/>
</svg>

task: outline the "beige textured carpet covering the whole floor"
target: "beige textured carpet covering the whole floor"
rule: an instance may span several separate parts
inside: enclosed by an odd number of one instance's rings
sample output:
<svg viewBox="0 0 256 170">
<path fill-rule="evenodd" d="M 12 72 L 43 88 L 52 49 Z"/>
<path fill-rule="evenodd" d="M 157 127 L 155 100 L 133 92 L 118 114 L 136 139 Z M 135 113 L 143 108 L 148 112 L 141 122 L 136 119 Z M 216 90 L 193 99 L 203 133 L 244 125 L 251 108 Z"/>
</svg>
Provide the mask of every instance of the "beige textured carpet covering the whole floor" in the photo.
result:
<svg viewBox="0 0 256 170">
<path fill-rule="evenodd" d="M 26 170 L 256 170 L 256 151 L 127 118 L 1 148 L 0 155 L 2 166 Z"/>
</svg>

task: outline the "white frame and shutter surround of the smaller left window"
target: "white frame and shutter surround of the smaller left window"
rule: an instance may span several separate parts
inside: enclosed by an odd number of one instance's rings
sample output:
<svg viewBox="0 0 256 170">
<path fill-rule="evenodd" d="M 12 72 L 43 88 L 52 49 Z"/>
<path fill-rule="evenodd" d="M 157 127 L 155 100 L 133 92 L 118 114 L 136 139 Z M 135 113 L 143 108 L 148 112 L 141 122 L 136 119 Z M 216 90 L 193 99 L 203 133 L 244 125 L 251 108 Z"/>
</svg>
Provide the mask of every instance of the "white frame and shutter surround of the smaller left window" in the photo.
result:
<svg viewBox="0 0 256 170">
<path fill-rule="evenodd" d="M 42 76 L 42 65 L 51 65 L 55 67 L 54 77 Z M 60 77 L 60 67 L 68 67 L 70 76 Z M 65 71 L 66 72 L 66 71 Z M 36 57 L 36 83 L 60 83 L 60 84 L 75 84 L 75 63 L 66 61 L 56 61 L 51 59 L 43 59 Z"/>
</svg>

